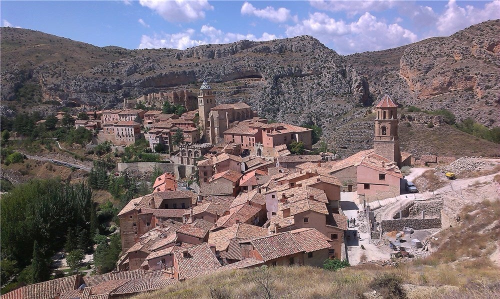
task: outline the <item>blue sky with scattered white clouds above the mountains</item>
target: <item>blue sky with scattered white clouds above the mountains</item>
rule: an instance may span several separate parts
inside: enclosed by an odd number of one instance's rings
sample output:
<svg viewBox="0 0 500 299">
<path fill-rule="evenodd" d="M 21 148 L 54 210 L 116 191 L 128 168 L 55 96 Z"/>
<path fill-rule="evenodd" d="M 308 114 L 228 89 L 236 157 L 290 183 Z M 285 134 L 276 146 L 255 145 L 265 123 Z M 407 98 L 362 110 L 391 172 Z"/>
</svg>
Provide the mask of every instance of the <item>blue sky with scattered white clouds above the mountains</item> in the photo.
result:
<svg viewBox="0 0 500 299">
<path fill-rule="evenodd" d="M 124 48 L 312 35 L 340 54 L 387 49 L 500 18 L 500 0 L 1 0 L 1 26 Z"/>
</svg>

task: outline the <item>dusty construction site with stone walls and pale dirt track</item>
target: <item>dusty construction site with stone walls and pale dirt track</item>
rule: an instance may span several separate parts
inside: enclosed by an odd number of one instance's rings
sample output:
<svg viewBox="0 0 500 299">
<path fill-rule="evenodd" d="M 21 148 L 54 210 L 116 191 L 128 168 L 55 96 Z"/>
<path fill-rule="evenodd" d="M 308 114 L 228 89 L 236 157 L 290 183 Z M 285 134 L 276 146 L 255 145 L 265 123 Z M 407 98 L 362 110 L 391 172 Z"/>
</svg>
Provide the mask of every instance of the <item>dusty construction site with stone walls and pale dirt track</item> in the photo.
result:
<svg viewBox="0 0 500 299">
<path fill-rule="evenodd" d="M 450 179 L 447 172 L 454 176 Z M 500 159 L 462 157 L 435 168 L 413 167 L 403 180 L 413 181 L 418 191 L 369 203 L 342 194 L 343 212 L 355 219 L 345 243 L 351 265 L 395 265 L 429 256 L 438 248 L 438 233 L 460 224 L 465 206 L 500 199 Z M 498 263 L 495 253 L 490 257 Z"/>
</svg>

